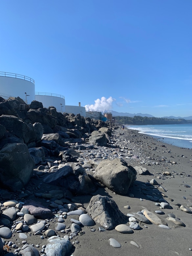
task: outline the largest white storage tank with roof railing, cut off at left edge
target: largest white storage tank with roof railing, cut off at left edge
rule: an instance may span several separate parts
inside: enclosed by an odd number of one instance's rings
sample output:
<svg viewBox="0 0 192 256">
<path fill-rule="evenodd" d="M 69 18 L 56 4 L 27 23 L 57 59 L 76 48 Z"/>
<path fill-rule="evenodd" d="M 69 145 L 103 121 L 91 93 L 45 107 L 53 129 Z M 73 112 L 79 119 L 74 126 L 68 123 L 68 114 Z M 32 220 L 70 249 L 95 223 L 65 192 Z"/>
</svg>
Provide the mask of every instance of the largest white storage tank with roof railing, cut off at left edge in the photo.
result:
<svg viewBox="0 0 192 256">
<path fill-rule="evenodd" d="M 20 97 L 30 104 L 35 99 L 35 81 L 26 75 L 0 72 L 0 96 Z"/>
</svg>

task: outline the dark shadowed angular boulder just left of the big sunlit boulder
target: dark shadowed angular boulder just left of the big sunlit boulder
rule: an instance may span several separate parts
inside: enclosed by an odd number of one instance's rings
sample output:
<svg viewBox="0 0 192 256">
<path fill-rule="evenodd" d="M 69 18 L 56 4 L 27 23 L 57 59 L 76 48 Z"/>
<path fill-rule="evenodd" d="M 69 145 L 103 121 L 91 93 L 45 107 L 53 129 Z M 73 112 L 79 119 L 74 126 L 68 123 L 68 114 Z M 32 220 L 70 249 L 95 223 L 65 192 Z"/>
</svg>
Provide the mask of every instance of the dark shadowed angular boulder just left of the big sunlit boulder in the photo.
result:
<svg viewBox="0 0 192 256">
<path fill-rule="evenodd" d="M 49 173 L 43 182 L 61 186 L 74 195 L 87 195 L 96 191 L 97 186 L 89 178 L 85 169 L 78 164 L 62 164 L 57 172 Z"/>
</svg>

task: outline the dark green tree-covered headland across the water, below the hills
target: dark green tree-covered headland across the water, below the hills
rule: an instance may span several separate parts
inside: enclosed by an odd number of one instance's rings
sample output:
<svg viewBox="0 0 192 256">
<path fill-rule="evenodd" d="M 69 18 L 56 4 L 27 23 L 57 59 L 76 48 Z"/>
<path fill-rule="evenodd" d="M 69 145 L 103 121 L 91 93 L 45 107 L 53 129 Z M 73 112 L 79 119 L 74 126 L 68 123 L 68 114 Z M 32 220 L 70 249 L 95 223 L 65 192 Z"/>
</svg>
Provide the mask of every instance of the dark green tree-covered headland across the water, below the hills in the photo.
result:
<svg viewBox="0 0 192 256">
<path fill-rule="evenodd" d="M 164 118 L 164 117 L 121 117 L 116 116 L 116 122 L 120 124 L 133 124 L 133 125 L 148 125 L 148 124 L 186 124 L 192 123 L 192 120 L 185 120 L 183 118 Z"/>
</svg>

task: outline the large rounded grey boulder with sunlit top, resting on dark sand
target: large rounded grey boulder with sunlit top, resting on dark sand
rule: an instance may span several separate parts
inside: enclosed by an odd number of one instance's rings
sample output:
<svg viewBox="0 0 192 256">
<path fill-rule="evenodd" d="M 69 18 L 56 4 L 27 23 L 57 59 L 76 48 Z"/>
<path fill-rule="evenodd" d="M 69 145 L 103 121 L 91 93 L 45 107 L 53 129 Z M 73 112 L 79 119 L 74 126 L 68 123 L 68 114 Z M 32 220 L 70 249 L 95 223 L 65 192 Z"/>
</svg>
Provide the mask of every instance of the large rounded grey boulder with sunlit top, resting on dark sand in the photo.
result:
<svg viewBox="0 0 192 256">
<path fill-rule="evenodd" d="M 106 159 L 95 169 L 94 178 L 119 195 L 127 195 L 137 171 L 123 159 Z"/>
</svg>

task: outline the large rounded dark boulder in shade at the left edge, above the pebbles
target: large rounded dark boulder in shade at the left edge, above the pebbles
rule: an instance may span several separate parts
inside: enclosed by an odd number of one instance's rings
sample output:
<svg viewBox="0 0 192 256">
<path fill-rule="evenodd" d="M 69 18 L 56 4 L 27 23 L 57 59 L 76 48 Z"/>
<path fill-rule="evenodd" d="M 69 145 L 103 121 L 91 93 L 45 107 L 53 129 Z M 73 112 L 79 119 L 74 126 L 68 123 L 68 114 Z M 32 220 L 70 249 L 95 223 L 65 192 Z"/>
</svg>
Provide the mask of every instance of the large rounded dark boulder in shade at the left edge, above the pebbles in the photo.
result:
<svg viewBox="0 0 192 256">
<path fill-rule="evenodd" d="M 11 191 L 22 189 L 35 164 L 26 144 L 11 143 L 0 150 L 0 184 Z"/>
</svg>

